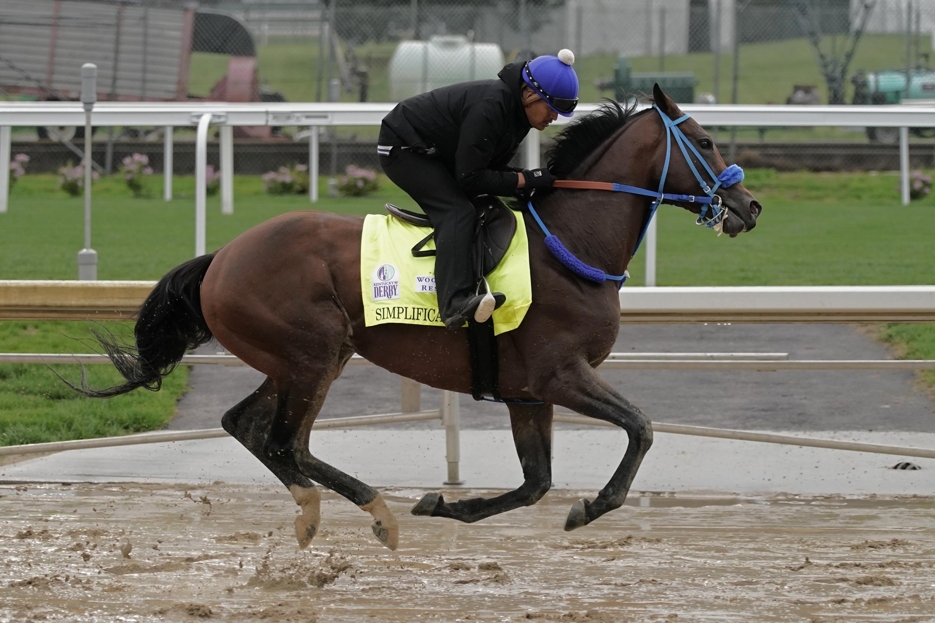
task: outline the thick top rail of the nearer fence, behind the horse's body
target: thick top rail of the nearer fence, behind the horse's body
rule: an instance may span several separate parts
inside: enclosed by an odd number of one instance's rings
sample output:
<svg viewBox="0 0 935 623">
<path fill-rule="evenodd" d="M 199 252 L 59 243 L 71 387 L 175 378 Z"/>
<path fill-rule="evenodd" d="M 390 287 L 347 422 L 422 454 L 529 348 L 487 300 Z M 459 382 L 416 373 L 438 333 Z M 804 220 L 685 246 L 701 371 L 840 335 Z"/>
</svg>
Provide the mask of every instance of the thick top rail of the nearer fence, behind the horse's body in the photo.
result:
<svg viewBox="0 0 935 623">
<path fill-rule="evenodd" d="M 0 319 L 130 319 L 154 285 L 0 280 Z M 935 286 L 626 287 L 620 321 L 935 322 Z"/>
</svg>

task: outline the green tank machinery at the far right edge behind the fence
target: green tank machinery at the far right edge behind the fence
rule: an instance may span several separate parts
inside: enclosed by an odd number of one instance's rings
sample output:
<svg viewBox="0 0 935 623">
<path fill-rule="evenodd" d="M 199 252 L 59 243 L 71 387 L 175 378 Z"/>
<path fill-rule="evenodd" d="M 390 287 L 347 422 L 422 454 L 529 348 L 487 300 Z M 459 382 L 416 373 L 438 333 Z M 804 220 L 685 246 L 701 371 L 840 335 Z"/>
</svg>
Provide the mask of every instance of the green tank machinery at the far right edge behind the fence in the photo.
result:
<svg viewBox="0 0 935 623">
<path fill-rule="evenodd" d="M 903 100 L 935 99 L 935 71 L 916 66 L 909 72 L 909 92 L 906 92 L 906 70 L 858 71 L 854 78 L 854 104 L 899 104 Z M 933 136 L 932 128 L 911 128 L 916 136 Z M 898 143 L 899 128 L 867 128 L 871 141 Z"/>
</svg>

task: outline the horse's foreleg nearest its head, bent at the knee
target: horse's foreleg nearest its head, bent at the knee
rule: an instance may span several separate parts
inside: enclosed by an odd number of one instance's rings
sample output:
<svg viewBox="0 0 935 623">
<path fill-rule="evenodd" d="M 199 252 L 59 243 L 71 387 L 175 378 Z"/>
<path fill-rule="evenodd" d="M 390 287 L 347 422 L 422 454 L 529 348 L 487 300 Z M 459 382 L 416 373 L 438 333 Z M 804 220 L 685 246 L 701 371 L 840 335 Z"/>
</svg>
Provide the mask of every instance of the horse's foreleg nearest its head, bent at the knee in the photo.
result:
<svg viewBox="0 0 935 623">
<path fill-rule="evenodd" d="M 565 530 L 581 528 L 597 517 L 620 508 L 626 501 L 626 494 L 640 469 L 643 456 L 653 445 L 653 426 L 649 418 L 585 362 L 559 370 L 548 378 L 539 377 L 536 395 L 583 416 L 616 424 L 626 431 L 628 439 L 624 458 L 610 482 L 600 490 L 594 502 L 582 499 L 571 506 Z"/>
</svg>

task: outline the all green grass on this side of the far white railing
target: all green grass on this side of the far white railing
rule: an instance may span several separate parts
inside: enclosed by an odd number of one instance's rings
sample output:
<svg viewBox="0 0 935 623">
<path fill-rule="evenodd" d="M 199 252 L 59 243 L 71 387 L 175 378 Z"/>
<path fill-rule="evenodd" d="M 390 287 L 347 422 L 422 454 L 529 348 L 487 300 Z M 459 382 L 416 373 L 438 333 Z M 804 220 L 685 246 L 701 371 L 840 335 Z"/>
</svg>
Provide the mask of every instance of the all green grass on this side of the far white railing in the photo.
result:
<svg viewBox="0 0 935 623">
<path fill-rule="evenodd" d="M 94 187 L 94 248 L 102 279 L 158 279 L 194 253 L 191 178 L 177 178 L 179 198 L 136 200 L 119 177 Z M 154 178 L 153 187 L 161 188 Z M 748 171 L 746 186 L 763 205 L 754 232 L 730 239 L 693 224 L 680 208 L 659 212 L 657 283 L 661 286 L 910 285 L 935 280 L 935 200 L 899 205 L 891 174 Z M 53 176 L 26 176 L 0 215 L 0 278 L 72 279 L 82 240 L 82 200 L 55 191 Z M 316 208 L 346 214 L 380 212 L 392 201 L 414 208 L 384 180 L 367 198 L 328 198 Z M 237 177 L 235 213 L 209 198 L 208 248 L 283 212 L 308 209 L 305 196 L 266 195 L 259 178 Z M 560 215 L 543 215 L 549 219 Z M 643 281 L 642 254 L 630 264 Z M 68 336 L 86 337 L 88 322 L 0 322 L 0 351 L 89 352 Z M 892 325 L 882 336 L 910 358 L 935 359 L 935 327 Z M 60 366 L 75 379 L 76 366 Z M 108 366 L 89 366 L 94 386 L 117 380 Z M 928 375 L 935 384 L 935 375 Z M 94 437 L 161 427 L 171 418 L 187 375 L 180 368 L 161 392 L 137 390 L 109 401 L 77 397 L 41 365 L 0 364 L 0 445 Z"/>
</svg>

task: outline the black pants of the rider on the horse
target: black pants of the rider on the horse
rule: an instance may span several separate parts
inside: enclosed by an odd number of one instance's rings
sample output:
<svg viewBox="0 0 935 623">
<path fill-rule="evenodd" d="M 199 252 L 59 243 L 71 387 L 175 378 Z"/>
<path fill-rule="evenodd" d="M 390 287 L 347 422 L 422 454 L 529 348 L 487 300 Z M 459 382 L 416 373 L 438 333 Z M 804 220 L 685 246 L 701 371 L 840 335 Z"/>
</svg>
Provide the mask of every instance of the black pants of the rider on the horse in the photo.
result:
<svg viewBox="0 0 935 623">
<path fill-rule="evenodd" d="M 381 156 L 386 177 L 409 193 L 435 227 L 435 277 L 442 319 L 458 310 L 453 305 L 474 293 L 471 242 L 474 238 L 474 205 L 454 177 L 437 160 L 409 149 L 394 148 Z"/>
</svg>

